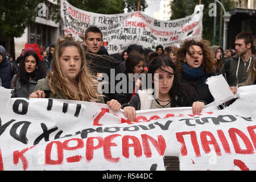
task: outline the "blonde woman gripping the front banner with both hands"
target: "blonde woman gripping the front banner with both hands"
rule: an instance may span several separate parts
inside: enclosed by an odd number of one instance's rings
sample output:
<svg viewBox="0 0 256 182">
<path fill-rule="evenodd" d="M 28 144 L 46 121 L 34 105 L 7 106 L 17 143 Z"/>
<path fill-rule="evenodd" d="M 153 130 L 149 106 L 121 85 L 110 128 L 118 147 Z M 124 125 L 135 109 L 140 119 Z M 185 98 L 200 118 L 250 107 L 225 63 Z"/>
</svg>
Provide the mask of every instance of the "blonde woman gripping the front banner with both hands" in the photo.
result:
<svg viewBox="0 0 256 182">
<path fill-rule="evenodd" d="M 104 103 L 103 97 L 98 94 L 97 78 L 91 75 L 86 65 L 84 51 L 71 35 L 58 39 L 51 71 L 46 78 L 38 81 L 30 98 L 93 100 Z M 106 104 L 113 110 L 121 108 L 121 104 L 116 100 Z"/>
</svg>

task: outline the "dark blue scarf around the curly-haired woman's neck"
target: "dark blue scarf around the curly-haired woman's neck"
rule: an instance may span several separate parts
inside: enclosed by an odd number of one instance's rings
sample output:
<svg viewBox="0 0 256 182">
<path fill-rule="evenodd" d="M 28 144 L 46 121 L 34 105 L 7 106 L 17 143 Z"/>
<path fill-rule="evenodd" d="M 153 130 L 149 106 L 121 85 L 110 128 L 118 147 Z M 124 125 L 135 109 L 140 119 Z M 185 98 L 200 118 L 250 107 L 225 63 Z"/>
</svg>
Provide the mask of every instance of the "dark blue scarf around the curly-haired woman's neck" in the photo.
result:
<svg viewBox="0 0 256 182">
<path fill-rule="evenodd" d="M 192 80 L 198 79 L 198 81 L 203 82 L 203 84 L 205 83 L 207 76 L 205 74 L 205 70 L 201 66 L 199 68 L 192 68 L 187 63 L 183 63 L 182 68 L 185 76 Z M 215 73 L 212 72 L 211 76 L 215 76 Z"/>
</svg>

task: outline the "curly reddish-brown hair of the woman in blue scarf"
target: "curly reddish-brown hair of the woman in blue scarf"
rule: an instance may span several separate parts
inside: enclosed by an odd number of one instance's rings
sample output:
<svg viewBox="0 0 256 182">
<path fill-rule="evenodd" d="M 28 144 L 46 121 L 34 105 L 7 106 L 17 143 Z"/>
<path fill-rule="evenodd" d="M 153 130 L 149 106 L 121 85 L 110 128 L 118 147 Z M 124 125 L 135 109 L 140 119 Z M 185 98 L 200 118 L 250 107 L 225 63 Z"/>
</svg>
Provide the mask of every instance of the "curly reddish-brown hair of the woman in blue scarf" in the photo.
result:
<svg viewBox="0 0 256 182">
<path fill-rule="evenodd" d="M 205 73 L 207 75 L 210 75 L 212 72 L 216 72 L 214 59 L 213 59 L 214 56 L 213 56 L 212 50 L 210 49 L 210 43 L 208 40 L 201 40 L 201 41 L 196 41 L 193 39 L 185 40 L 177 51 L 177 61 L 176 61 L 177 69 L 179 69 L 179 71 L 182 71 L 182 65 L 184 63 L 185 56 L 187 53 L 190 56 L 193 56 L 189 51 L 189 48 L 191 46 L 199 46 L 202 49 L 203 63 L 201 66 L 203 69 L 205 69 Z"/>
</svg>

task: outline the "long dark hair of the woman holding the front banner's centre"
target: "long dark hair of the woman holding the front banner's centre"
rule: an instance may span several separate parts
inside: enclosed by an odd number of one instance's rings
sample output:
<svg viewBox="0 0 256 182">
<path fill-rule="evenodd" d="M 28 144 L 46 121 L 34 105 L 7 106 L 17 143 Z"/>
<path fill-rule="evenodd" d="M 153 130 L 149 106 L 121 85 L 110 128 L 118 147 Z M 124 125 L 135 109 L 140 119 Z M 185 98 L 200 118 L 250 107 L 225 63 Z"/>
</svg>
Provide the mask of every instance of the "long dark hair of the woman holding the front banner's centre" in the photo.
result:
<svg viewBox="0 0 256 182">
<path fill-rule="evenodd" d="M 148 65 L 148 73 L 152 74 L 154 78 L 154 73 L 157 69 L 161 69 L 164 72 L 164 67 L 171 67 L 174 70 L 174 82 L 172 88 L 169 91 L 169 96 L 171 97 L 171 107 L 184 107 L 192 106 L 192 103 L 196 101 L 196 96 L 192 96 L 189 92 L 188 87 L 185 84 L 179 82 L 179 77 L 177 76 L 177 69 L 174 63 L 172 63 L 170 56 L 161 55 L 155 57 L 151 63 Z M 170 73 L 170 72 L 167 72 Z"/>
</svg>

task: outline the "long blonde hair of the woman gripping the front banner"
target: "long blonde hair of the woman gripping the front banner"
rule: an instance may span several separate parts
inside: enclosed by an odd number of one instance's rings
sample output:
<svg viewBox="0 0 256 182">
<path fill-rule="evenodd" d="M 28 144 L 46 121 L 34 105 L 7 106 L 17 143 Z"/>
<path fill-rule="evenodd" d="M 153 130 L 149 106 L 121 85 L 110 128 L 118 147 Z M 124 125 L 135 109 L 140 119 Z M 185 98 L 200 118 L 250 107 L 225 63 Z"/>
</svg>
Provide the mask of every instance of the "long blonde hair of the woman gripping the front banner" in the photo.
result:
<svg viewBox="0 0 256 182">
<path fill-rule="evenodd" d="M 60 57 L 65 47 L 75 46 L 80 54 L 81 69 L 73 80 L 65 74 L 60 67 Z M 59 38 L 53 53 L 52 68 L 47 75 L 48 86 L 53 96 L 60 93 L 65 99 L 78 101 L 98 101 L 98 81 L 86 65 L 84 51 L 79 42 L 75 42 L 71 35 Z M 73 83 L 75 82 L 76 88 Z M 75 90 L 74 90 L 75 89 Z"/>
</svg>

